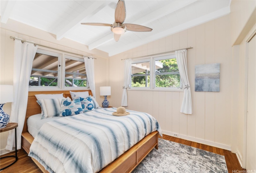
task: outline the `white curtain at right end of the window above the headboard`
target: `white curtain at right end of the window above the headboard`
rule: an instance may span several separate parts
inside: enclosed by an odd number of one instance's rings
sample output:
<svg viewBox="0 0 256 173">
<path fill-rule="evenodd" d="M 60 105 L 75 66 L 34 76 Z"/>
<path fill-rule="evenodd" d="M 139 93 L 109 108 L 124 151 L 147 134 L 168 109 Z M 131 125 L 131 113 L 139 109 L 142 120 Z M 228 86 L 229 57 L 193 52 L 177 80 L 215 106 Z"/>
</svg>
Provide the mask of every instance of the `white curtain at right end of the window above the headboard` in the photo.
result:
<svg viewBox="0 0 256 173">
<path fill-rule="evenodd" d="M 83 57 L 85 63 L 86 70 L 86 80 L 89 83 L 90 90 L 92 91 L 92 95 L 96 98 L 95 93 L 95 80 L 94 80 L 94 58 L 91 57 Z"/>
</svg>

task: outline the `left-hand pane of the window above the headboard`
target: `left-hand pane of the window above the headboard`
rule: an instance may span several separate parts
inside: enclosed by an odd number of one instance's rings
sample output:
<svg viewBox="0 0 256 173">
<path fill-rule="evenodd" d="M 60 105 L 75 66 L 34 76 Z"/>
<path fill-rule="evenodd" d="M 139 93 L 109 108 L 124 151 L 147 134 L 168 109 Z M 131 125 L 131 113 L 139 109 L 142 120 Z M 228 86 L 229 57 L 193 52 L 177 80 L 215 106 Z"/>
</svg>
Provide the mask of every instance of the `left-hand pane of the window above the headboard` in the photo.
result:
<svg viewBox="0 0 256 173">
<path fill-rule="evenodd" d="M 29 86 L 58 86 L 58 64 L 58 57 L 36 53 Z"/>
</svg>

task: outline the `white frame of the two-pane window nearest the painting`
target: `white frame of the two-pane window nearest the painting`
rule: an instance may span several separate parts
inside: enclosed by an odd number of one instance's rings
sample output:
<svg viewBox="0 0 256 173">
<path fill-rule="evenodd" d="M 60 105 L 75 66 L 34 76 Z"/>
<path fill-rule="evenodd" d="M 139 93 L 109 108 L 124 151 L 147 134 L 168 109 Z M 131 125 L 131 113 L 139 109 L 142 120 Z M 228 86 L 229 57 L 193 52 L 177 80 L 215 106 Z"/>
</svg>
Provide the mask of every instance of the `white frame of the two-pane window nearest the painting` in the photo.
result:
<svg viewBox="0 0 256 173">
<path fill-rule="evenodd" d="M 155 61 L 157 60 L 164 60 L 164 59 L 172 59 L 176 58 L 175 53 L 169 53 L 164 56 L 152 56 L 152 57 L 145 57 L 145 58 L 140 58 L 139 60 L 132 60 L 132 64 L 134 63 L 140 63 L 140 62 L 146 62 L 150 61 L 150 87 L 132 87 L 132 81 L 131 81 L 131 76 L 132 76 L 132 70 L 130 74 L 130 83 L 129 85 L 131 86 L 128 90 L 134 90 L 134 91 L 184 91 L 182 88 L 182 82 L 180 81 L 180 87 L 155 87 Z M 151 70 L 153 69 L 153 70 Z"/>
</svg>

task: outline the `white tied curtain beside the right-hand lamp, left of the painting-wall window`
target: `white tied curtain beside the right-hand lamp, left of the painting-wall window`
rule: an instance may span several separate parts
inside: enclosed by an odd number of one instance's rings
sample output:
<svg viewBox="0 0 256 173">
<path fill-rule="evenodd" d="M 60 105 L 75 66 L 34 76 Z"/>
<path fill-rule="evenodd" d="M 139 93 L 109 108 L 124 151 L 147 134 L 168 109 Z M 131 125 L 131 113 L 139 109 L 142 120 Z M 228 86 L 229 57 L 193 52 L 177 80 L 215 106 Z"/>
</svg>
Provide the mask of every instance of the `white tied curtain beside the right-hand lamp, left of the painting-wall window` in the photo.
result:
<svg viewBox="0 0 256 173">
<path fill-rule="evenodd" d="M 127 102 L 127 88 L 129 87 L 129 79 L 131 75 L 132 59 L 124 60 L 124 86 L 121 106 L 128 106 Z"/>
</svg>

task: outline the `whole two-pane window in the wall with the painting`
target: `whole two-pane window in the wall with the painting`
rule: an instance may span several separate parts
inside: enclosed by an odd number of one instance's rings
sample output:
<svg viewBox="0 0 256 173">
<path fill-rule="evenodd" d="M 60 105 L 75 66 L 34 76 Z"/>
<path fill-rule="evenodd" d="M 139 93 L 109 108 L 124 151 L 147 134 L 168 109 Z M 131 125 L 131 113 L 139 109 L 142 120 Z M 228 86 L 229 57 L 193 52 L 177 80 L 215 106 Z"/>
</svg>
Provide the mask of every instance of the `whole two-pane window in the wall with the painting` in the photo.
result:
<svg viewBox="0 0 256 173">
<path fill-rule="evenodd" d="M 132 61 L 131 88 L 181 89 L 175 54 Z"/>
</svg>

